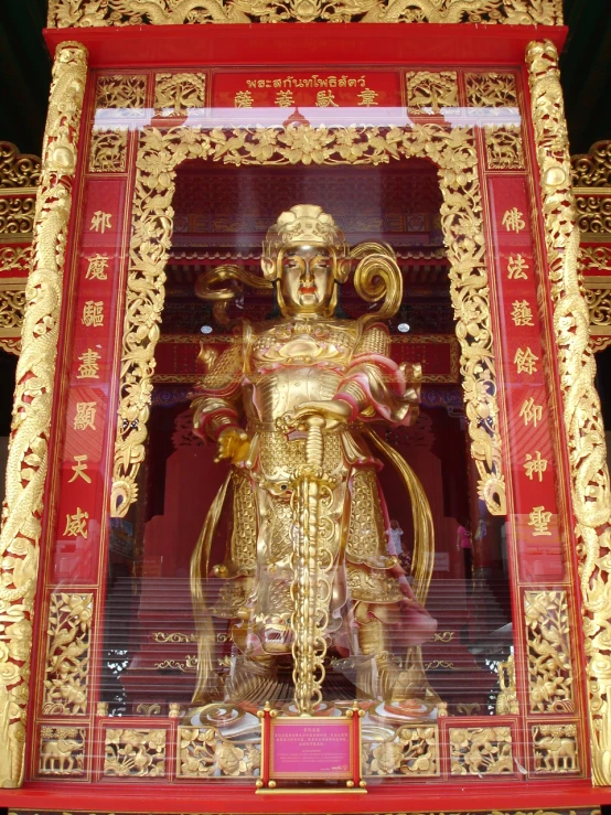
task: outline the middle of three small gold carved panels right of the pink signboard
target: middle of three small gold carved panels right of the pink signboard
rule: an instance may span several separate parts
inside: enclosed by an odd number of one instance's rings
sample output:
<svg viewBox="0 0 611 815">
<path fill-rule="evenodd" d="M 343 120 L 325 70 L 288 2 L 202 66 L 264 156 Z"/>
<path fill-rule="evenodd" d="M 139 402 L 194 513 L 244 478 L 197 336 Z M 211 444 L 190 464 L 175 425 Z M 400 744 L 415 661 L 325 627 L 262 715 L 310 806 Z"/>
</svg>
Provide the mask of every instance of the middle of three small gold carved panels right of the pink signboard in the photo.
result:
<svg viewBox="0 0 611 815">
<path fill-rule="evenodd" d="M 501 775 L 514 771 L 508 727 L 449 728 L 452 775 Z"/>
</svg>

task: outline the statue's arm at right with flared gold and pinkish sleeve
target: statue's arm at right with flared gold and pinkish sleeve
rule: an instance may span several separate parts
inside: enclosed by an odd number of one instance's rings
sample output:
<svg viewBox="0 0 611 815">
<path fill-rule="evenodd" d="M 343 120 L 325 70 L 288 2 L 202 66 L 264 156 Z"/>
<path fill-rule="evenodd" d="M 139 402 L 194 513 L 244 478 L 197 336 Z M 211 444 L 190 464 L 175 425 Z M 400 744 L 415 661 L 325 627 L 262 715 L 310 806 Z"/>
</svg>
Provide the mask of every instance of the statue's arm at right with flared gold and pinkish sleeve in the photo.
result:
<svg viewBox="0 0 611 815">
<path fill-rule="evenodd" d="M 390 336 L 382 323 L 367 328 L 354 351 L 335 399 L 352 406 L 352 419 L 412 425 L 420 401 L 420 366 L 390 358 Z"/>
</svg>

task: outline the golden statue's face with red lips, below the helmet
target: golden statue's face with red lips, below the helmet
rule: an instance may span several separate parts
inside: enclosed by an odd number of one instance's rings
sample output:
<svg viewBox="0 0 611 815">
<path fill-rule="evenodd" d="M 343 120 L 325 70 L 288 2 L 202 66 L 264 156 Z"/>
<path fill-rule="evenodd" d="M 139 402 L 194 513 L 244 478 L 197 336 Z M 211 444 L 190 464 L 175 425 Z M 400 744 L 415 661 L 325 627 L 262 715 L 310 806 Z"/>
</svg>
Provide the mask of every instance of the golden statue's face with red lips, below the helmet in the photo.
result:
<svg viewBox="0 0 611 815">
<path fill-rule="evenodd" d="M 330 314 L 335 256 L 321 246 L 289 246 L 280 254 L 280 308 L 286 314 Z"/>
</svg>

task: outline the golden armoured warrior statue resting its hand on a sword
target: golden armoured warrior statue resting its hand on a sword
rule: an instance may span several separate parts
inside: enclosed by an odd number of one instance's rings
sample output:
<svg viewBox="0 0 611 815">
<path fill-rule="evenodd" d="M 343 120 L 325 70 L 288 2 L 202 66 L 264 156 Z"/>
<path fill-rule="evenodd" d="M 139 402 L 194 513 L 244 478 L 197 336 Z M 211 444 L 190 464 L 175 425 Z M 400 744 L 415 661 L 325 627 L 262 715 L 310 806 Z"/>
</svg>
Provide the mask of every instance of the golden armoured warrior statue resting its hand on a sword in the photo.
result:
<svg viewBox="0 0 611 815">
<path fill-rule="evenodd" d="M 339 287 L 353 266 L 357 294 L 382 307 L 339 319 Z M 299 712 L 334 694 L 346 698 L 346 687 L 353 698 L 393 705 L 437 700 L 419 648 L 436 630 L 424 608 L 430 508 L 414 472 L 371 429 L 411 425 L 418 414 L 420 366 L 390 360 L 383 322 L 403 297 L 394 253 L 374 243 L 350 250 L 331 215 L 298 205 L 269 229 L 261 269 L 264 280 L 219 267 L 199 292 L 217 301 L 221 318 L 239 282 L 274 287 L 281 317 L 245 321 L 238 342 L 201 355 L 207 373 L 192 403 L 194 429 L 217 443 L 216 461 L 228 459 L 231 471 L 192 558 L 193 701 L 261 704 L 287 699 L 287 687 Z M 411 497 L 411 578 L 393 548 L 371 447 L 390 460 Z M 210 571 L 228 503 L 224 562 Z M 204 591 L 211 578 L 221 582 L 212 608 Z M 212 662 L 212 618 L 227 621 L 233 642 L 224 686 Z"/>
</svg>

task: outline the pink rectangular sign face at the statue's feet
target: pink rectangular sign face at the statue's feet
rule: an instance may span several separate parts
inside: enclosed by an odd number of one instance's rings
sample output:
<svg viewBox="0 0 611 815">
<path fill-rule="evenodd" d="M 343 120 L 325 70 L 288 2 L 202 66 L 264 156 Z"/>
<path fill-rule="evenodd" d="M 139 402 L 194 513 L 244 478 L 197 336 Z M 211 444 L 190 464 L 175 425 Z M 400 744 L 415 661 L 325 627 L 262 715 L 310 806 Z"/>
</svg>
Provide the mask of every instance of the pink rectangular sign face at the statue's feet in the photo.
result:
<svg viewBox="0 0 611 815">
<path fill-rule="evenodd" d="M 352 779 L 352 719 L 272 720 L 270 776 L 274 779 Z"/>
</svg>

